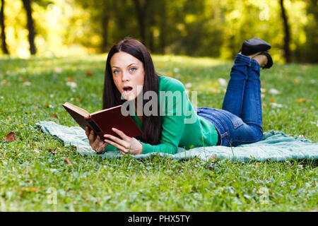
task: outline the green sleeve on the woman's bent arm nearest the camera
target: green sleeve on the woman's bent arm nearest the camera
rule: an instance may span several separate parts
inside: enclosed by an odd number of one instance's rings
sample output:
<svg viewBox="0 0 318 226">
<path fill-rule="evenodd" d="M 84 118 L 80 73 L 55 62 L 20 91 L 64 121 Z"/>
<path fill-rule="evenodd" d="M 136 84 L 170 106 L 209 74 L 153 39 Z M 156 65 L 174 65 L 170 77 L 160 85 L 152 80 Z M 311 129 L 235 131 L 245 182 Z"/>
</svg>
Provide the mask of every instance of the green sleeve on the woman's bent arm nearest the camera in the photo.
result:
<svg viewBox="0 0 318 226">
<path fill-rule="evenodd" d="M 143 154 L 145 153 L 177 153 L 177 148 L 179 141 L 182 138 L 184 133 L 184 114 L 183 114 L 183 105 L 186 101 L 184 96 L 184 85 L 176 81 L 172 85 L 169 85 L 168 91 L 165 92 L 165 95 L 160 95 L 161 105 L 165 105 L 164 108 L 160 105 L 160 112 L 165 112 L 163 116 L 163 127 L 161 133 L 160 144 L 151 145 L 149 143 L 143 143 Z M 161 115 L 163 113 L 160 113 Z"/>
</svg>

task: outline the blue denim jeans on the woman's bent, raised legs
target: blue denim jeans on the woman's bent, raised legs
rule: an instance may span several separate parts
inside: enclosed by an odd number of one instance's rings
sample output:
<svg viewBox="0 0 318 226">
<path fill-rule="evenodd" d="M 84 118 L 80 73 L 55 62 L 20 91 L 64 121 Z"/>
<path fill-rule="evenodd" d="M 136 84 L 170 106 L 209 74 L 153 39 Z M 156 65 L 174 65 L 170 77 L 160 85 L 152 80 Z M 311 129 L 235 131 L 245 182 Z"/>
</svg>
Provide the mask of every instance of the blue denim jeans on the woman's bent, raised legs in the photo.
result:
<svg viewBox="0 0 318 226">
<path fill-rule="evenodd" d="M 219 134 L 219 145 L 254 143 L 263 136 L 259 63 L 237 54 L 222 109 L 197 107 L 199 116 L 211 121 Z"/>
</svg>

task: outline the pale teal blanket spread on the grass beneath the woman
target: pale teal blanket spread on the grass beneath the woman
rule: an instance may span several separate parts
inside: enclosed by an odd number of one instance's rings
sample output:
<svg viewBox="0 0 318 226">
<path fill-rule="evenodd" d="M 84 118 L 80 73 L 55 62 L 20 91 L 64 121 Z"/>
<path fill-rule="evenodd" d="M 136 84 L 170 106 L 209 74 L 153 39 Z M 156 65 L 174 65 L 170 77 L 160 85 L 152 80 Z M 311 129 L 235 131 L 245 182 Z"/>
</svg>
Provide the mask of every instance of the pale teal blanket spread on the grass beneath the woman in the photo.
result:
<svg viewBox="0 0 318 226">
<path fill-rule="evenodd" d="M 40 127 L 43 132 L 64 142 L 64 145 L 75 146 L 81 155 L 100 155 L 101 157 L 107 158 L 122 156 L 119 151 L 96 154 L 95 151 L 90 148 L 88 138 L 81 127 L 61 126 L 54 121 L 40 121 L 36 126 Z M 224 146 L 200 147 L 189 150 L 178 148 L 178 152 L 175 155 L 148 153 L 132 156 L 145 158 L 151 155 L 167 156 L 177 160 L 199 157 L 201 160 L 206 161 L 212 157 L 226 158 L 240 162 L 247 162 L 249 160 L 257 160 L 260 162 L 266 160 L 284 161 L 288 159 L 315 160 L 318 158 L 318 144 L 312 143 L 312 141 L 304 138 L 288 136 L 280 131 L 269 131 L 264 133 L 261 141 L 240 145 L 235 148 Z"/>
</svg>

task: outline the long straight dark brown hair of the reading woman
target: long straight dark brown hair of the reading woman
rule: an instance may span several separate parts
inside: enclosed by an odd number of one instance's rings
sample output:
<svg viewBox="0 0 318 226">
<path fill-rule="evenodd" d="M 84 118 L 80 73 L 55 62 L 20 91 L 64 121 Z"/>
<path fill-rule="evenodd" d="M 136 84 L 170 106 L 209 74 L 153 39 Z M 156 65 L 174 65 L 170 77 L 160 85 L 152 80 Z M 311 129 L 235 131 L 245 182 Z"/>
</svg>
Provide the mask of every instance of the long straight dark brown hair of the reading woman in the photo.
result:
<svg viewBox="0 0 318 226">
<path fill-rule="evenodd" d="M 126 52 L 143 62 L 143 69 L 145 72 L 145 78 L 143 82 L 143 93 L 149 90 L 154 91 L 158 97 L 159 84 L 158 77 L 155 72 L 155 66 L 153 60 L 148 52 L 148 49 L 139 41 L 126 38 L 114 44 L 110 52 L 108 53 L 105 69 L 105 82 L 104 91 L 102 94 L 102 107 L 107 109 L 117 105 L 122 105 L 126 100 L 121 100 L 121 93 L 117 90 L 112 79 L 112 69 L 110 66 L 110 59 L 117 52 Z M 142 94 L 143 94 L 142 93 Z M 143 96 L 143 95 L 142 95 Z M 143 100 L 143 106 L 148 100 Z M 158 103 L 159 105 L 159 103 Z M 159 106 L 157 107 L 159 110 Z M 160 143 L 161 136 L 161 122 L 159 112 L 157 115 L 146 116 L 143 115 L 143 135 L 141 141 L 155 145 Z"/>
</svg>

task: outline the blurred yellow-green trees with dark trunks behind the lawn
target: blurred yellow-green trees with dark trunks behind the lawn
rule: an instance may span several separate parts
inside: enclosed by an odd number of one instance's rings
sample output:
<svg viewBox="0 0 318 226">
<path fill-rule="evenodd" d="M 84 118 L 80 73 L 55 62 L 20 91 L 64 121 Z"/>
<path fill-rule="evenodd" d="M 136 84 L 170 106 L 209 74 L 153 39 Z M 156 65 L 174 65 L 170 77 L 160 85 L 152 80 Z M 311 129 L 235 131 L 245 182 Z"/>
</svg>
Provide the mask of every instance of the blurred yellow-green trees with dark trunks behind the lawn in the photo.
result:
<svg viewBox="0 0 318 226">
<path fill-rule="evenodd" d="M 95 54 L 133 37 L 152 54 L 231 59 L 260 37 L 276 61 L 318 62 L 317 17 L 317 0 L 1 0 L 1 54 Z"/>
</svg>

